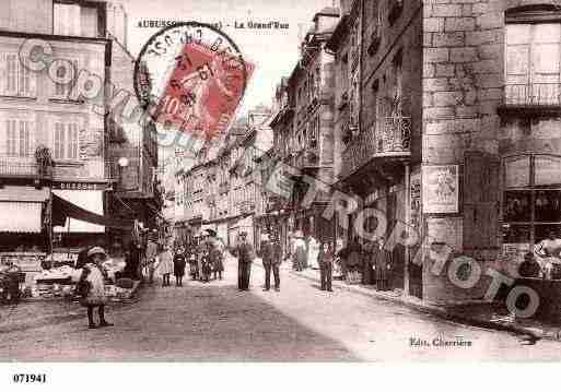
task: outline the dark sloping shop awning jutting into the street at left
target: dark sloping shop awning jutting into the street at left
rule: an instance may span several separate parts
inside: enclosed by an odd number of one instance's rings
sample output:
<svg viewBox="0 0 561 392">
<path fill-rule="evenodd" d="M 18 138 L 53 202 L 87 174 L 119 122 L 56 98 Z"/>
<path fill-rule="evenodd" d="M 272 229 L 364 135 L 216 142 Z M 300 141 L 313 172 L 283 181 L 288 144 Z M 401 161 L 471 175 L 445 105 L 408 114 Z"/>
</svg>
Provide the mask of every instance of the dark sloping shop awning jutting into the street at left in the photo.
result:
<svg viewBox="0 0 561 392">
<path fill-rule="evenodd" d="M 85 192 L 81 192 L 81 204 L 84 203 Z M 67 194 L 63 194 L 67 195 Z M 103 209 L 103 200 L 102 200 L 102 209 Z M 103 211 L 103 210 L 102 210 Z M 79 221 L 80 223 L 91 224 L 90 227 L 81 224 L 80 226 L 74 223 L 72 225 L 72 221 L 70 223 L 67 222 L 67 218 Z M 135 227 L 133 219 L 117 219 L 113 216 L 103 215 L 96 212 L 91 211 L 90 209 L 82 207 L 72 203 L 70 200 L 67 200 L 66 197 L 61 197 L 58 194 L 52 194 L 52 224 L 55 226 L 65 226 L 67 224 L 70 225 L 70 230 L 77 233 L 80 230 L 81 233 L 98 233 L 98 228 L 102 229 L 104 227 L 113 227 L 120 229 L 132 229 Z M 72 229 L 74 226 L 74 229 Z M 78 227 L 77 227 L 78 226 Z M 60 231 L 60 230 L 58 230 Z M 62 230 L 63 231 L 63 230 Z"/>
</svg>

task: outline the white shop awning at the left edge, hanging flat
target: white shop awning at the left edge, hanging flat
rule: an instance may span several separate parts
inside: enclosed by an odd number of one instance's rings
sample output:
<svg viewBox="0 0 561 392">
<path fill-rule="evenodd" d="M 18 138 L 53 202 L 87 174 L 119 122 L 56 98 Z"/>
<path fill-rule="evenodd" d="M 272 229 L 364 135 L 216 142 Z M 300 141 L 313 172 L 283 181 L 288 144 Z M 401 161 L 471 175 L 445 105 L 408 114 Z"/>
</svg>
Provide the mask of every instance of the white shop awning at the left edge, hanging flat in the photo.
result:
<svg viewBox="0 0 561 392">
<path fill-rule="evenodd" d="M 0 231 L 40 233 L 43 203 L 0 201 Z"/>
</svg>

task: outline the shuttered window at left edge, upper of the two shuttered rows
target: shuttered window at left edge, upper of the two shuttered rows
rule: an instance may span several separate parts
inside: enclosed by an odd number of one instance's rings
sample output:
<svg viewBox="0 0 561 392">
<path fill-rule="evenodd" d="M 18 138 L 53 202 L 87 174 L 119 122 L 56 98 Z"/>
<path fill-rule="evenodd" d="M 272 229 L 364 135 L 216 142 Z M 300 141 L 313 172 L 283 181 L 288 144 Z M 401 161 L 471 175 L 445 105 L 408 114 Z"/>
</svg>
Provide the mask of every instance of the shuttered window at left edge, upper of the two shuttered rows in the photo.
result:
<svg viewBox="0 0 561 392">
<path fill-rule="evenodd" d="M 17 54 L 0 54 L 0 94 L 35 97 L 36 74 L 25 68 Z"/>
</svg>

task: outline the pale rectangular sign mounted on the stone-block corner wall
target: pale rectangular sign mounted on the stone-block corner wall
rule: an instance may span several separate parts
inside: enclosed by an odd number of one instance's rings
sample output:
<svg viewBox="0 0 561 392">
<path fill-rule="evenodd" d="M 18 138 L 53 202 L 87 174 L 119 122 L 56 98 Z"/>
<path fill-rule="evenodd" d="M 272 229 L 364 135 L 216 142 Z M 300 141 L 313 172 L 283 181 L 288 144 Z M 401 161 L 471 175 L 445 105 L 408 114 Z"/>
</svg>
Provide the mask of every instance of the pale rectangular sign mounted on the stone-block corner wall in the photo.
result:
<svg viewBox="0 0 561 392">
<path fill-rule="evenodd" d="M 423 166 L 423 213 L 457 213 L 459 200 L 458 182 L 458 165 Z"/>
</svg>

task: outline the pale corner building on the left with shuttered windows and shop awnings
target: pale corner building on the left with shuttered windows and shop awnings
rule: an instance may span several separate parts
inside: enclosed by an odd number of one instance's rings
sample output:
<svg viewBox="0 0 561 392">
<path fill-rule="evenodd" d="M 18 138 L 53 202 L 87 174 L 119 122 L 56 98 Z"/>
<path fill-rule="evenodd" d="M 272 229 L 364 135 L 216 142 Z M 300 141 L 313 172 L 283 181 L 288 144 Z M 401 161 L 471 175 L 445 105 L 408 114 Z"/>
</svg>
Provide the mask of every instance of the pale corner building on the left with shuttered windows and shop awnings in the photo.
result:
<svg viewBox="0 0 561 392">
<path fill-rule="evenodd" d="M 108 227 L 130 229 L 137 217 L 110 216 L 119 178 L 109 129 L 118 116 L 103 86 L 132 85 L 119 66 L 132 61 L 128 54 L 122 60 L 124 10 L 105 1 L 7 0 L 0 14 L 0 209 L 21 212 L 0 227 L 10 237 L 2 243 L 66 252 L 107 243 Z M 74 83 L 79 75 L 84 83 Z M 133 154 L 143 157 L 129 158 L 130 168 L 143 165 L 139 189 L 148 193 L 157 159 L 149 133 L 136 132 Z"/>
</svg>

